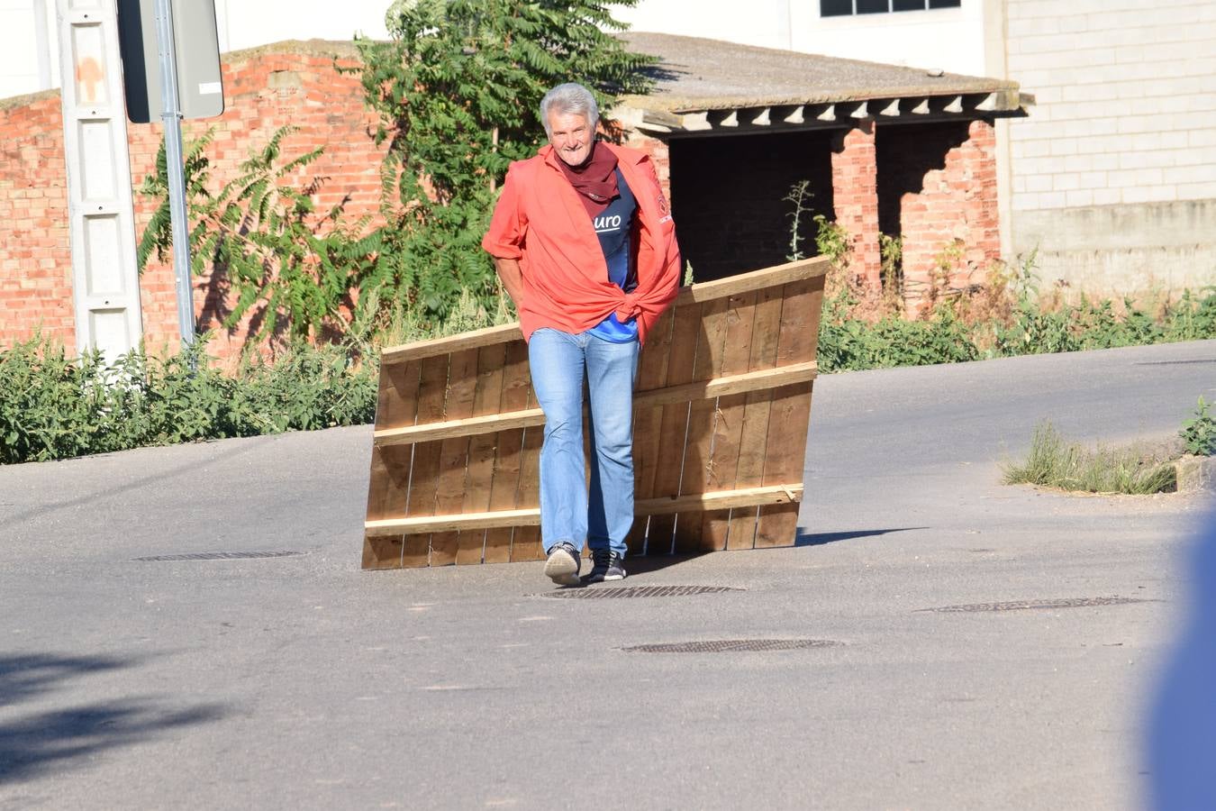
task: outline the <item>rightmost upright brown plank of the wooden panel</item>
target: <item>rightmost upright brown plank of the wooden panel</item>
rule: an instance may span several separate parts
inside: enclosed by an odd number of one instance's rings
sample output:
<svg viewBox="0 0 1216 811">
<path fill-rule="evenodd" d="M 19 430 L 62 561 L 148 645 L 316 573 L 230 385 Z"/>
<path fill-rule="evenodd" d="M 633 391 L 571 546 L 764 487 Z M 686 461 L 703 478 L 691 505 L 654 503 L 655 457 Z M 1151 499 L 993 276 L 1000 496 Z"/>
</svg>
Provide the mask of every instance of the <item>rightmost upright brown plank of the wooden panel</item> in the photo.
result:
<svg viewBox="0 0 1216 811">
<path fill-rule="evenodd" d="M 782 291 L 778 362 L 814 359 L 823 306 L 822 280 L 787 285 Z M 811 416 L 811 383 L 773 392 L 765 447 L 764 481 L 801 480 L 806 461 L 806 432 Z M 796 507 L 761 507 L 756 547 L 789 546 L 798 535 Z"/>
</svg>

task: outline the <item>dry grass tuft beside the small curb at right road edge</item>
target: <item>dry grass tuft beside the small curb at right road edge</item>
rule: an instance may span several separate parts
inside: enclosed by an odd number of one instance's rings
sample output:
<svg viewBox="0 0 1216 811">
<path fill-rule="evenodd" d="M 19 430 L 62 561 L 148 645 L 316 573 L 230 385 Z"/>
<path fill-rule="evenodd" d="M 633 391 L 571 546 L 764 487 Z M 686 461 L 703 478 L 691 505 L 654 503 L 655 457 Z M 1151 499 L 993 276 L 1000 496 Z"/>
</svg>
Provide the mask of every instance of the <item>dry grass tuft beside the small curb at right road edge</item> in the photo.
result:
<svg viewBox="0 0 1216 811">
<path fill-rule="evenodd" d="M 1006 484 L 1060 490 L 1150 495 L 1177 489 L 1173 466 L 1137 447 L 1087 450 L 1065 440 L 1049 422 L 1038 423 L 1024 462 L 1004 466 Z"/>
</svg>

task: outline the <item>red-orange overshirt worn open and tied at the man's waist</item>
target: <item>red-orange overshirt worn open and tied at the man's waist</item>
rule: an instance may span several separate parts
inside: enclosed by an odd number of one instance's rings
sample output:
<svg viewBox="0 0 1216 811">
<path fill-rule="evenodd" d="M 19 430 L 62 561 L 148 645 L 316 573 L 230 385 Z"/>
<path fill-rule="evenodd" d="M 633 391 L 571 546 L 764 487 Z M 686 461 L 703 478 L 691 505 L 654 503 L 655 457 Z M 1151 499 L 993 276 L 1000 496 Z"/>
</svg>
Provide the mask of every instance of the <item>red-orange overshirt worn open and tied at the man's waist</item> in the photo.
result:
<svg viewBox="0 0 1216 811">
<path fill-rule="evenodd" d="M 519 327 L 524 338 L 535 330 L 585 332 L 614 311 L 620 321 L 637 319 L 638 340 L 680 287 L 680 248 L 671 210 L 663 197 L 654 164 L 637 150 L 599 142 L 617 156 L 618 168 L 638 205 L 635 241 L 637 287 L 625 293 L 608 280 L 608 265 L 587 210 L 545 146 L 507 170 L 482 247 L 500 259 L 517 259 L 523 271 Z"/>
</svg>

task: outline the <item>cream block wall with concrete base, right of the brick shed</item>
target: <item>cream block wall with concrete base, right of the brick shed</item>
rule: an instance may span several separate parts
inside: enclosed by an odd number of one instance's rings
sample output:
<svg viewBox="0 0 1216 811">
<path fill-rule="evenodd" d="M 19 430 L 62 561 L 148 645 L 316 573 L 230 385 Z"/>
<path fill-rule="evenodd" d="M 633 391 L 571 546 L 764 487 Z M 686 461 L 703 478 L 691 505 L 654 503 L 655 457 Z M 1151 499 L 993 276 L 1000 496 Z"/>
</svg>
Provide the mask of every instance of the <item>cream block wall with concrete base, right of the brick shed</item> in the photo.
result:
<svg viewBox="0 0 1216 811">
<path fill-rule="evenodd" d="M 1013 248 L 1087 292 L 1216 283 L 1216 5 L 1008 0 Z"/>
</svg>

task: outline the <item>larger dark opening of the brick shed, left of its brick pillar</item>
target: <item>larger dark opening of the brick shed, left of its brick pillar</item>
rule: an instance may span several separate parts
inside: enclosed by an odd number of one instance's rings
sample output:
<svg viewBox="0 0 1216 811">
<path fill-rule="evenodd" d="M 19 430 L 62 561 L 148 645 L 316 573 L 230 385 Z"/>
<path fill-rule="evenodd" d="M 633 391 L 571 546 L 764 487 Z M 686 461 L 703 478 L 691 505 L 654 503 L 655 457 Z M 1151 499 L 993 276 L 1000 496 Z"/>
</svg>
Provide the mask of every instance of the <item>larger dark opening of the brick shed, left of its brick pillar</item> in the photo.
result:
<svg viewBox="0 0 1216 811">
<path fill-rule="evenodd" d="M 669 150 L 676 233 L 698 282 L 787 261 L 794 205 L 784 197 L 803 180 L 814 210 L 799 220 L 799 248 L 816 255 L 812 216 L 834 219 L 831 133 L 672 139 Z"/>
</svg>

